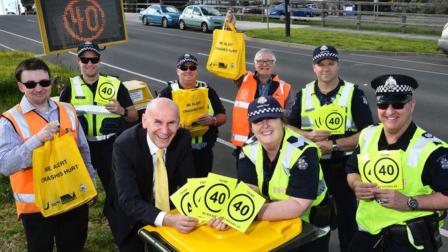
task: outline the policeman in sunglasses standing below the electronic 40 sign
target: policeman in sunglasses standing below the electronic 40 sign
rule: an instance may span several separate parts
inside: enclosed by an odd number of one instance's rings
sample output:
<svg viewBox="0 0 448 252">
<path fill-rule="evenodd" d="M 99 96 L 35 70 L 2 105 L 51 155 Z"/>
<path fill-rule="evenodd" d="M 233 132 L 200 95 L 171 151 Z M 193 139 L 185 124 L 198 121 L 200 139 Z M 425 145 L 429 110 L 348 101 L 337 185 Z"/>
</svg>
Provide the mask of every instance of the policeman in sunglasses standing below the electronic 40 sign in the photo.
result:
<svg viewBox="0 0 448 252">
<path fill-rule="evenodd" d="M 92 165 L 98 171 L 107 194 L 116 133 L 125 129 L 125 122 L 134 123 L 139 116 L 125 85 L 114 76 L 100 74 L 101 53 L 98 45 L 81 43 L 77 61 L 81 75 L 70 78 L 59 101 L 72 103 L 77 109 L 88 139 Z"/>
</svg>

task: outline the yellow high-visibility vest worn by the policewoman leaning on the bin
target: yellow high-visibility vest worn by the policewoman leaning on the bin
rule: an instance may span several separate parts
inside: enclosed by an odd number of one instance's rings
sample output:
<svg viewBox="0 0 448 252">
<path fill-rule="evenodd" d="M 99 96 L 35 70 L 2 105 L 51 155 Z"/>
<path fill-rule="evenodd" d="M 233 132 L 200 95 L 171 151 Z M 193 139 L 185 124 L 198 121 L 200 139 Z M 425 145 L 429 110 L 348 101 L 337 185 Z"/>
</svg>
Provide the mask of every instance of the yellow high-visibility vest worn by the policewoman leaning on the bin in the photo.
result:
<svg viewBox="0 0 448 252">
<path fill-rule="evenodd" d="M 289 143 L 289 138 L 296 138 L 296 143 Z M 254 142 L 252 142 L 254 140 Z M 307 145 L 305 145 L 305 142 Z M 303 147 L 303 149 L 299 149 L 299 147 Z M 273 201 L 278 200 L 287 200 L 289 196 L 286 194 L 287 185 L 289 184 L 289 170 L 294 166 L 297 162 L 298 158 L 303 154 L 303 152 L 309 147 L 314 147 L 318 151 L 318 156 L 320 156 L 320 151 L 316 144 L 312 143 L 310 140 L 307 140 L 303 136 L 293 132 L 292 129 L 285 127 L 285 136 L 283 138 L 282 149 L 280 152 L 280 156 L 278 156 L 278 162 L 274 169 L 274 174 L 272 174 L 271 180 L 269 180 L 269 196 L 265 196 L 265 198 L 269 198 Z M 243 151 L 245 155 L 254 163 L 257 180 L 258 180 L 258 189 L 263 195 L 263 149 L 261 143 L 256 140 L 255 137 L 252 137 L 247 141 L 246 145 L 243 146 Z M 325 185 L 325 180 L 323 178 L 322 169 L 320 169 L 319 165 L 319 181 L 318 181 L 318 190 L 316 191 L 316 200 L 313 201 L 312 206 L 317 206 L 322 202 L 325 198 L 325 192 L 327 191 L 327 186 Z M 309 212 L 311 208 L 306 211 L 301 216 L 301 219 L 309 222 Z M 318 236 L 325 235 L 329 231 L 329 227 L 325 227 L 324 229 L 318 229 Z"/>
</svg>

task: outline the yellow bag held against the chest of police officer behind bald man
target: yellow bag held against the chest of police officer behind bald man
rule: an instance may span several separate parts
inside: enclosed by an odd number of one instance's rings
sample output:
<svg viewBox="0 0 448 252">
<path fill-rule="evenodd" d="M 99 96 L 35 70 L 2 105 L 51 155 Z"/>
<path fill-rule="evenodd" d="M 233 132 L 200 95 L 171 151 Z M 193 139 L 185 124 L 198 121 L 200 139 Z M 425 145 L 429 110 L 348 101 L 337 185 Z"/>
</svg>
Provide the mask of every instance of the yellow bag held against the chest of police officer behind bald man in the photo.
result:
<svg viewBox="0 0 448 252">
<path fill-rule="evenodd" d="M 192 137 L 202 136 L 207 132 L 207 125 L 200 125 L 198 118 L 208 114 L 208 89 L 205 87 L 172 92 L 173 101 L 179 107 L 181 126 L 190 130 Z"/>
</svg>

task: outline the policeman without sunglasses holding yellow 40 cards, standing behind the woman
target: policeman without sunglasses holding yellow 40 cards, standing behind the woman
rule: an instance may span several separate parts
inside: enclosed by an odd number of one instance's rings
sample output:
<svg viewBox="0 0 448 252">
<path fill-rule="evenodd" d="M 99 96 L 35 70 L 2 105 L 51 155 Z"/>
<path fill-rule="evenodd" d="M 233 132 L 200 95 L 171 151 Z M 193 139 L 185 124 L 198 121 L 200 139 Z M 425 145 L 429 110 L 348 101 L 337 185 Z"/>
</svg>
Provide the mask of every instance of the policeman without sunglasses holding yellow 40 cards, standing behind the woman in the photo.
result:
<svg viewBox="0 0 448 252">
<path fill-rule="evenodd" d="M 347 185 L 344 167 L 358 143 L 358 132 L 374 120 L 363 91 L 339 78 L 339 66 L 336 48 L 322 45 L 314 49 L 312 67 L 317 79 L 297 93 L 288 124 L 295 132 L 316 143 L 323 154 L 320 165 L 329 194 L 336 200 L 339 247 L 340 251 L 345 251 L 357 227 L 356 198 Z M 344 107 L 345 114 L 332 120 L 326 109 L 336 107 Z M 323 112 L 319 118 L 325 125 L 340 130 L 337 134 L 322 129 L 323 123 L 318 125 L 320 120 L 316 121 L 314 116 L 318 111 Z M 334 123 L 336 121 L 339 123 Z"/>
</svg>

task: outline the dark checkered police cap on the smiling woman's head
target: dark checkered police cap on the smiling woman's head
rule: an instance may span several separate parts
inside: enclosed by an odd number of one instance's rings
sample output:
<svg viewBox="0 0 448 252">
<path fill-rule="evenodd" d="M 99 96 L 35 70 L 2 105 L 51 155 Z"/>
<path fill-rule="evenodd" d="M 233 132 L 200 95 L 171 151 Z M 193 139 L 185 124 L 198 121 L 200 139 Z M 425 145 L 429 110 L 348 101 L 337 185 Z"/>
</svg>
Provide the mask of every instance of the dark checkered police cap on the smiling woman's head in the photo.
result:
<svg viewBox="0 0 448 252">
<path fill-rule="evenodd" d="M 250 103 L 247 110 L 249 123 L 260 118 L 281 118 L 283 108 L 272 96 L 260 96 Z"/>
</svg>

